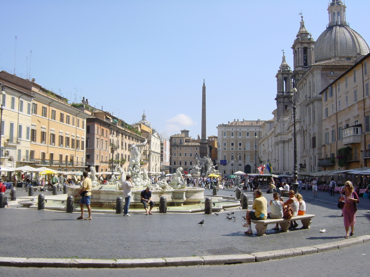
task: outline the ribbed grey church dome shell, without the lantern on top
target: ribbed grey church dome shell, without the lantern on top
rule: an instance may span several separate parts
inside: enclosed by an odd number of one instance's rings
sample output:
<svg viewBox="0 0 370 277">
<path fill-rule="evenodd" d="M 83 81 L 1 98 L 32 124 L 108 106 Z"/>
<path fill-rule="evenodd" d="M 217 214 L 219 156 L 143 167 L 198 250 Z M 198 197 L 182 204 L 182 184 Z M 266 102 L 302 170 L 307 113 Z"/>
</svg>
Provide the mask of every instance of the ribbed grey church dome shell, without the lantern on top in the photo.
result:
<svg viewBox="0 0 370 277">
<path fill-rule="evenodd" d="M 348 25 L 333 25 L 326 28 L 315 44 L 316 62 L 331 59 L 351 59 L 357 54 L 366 55 L 369 45 L 359 33 Z"/>
</svg>

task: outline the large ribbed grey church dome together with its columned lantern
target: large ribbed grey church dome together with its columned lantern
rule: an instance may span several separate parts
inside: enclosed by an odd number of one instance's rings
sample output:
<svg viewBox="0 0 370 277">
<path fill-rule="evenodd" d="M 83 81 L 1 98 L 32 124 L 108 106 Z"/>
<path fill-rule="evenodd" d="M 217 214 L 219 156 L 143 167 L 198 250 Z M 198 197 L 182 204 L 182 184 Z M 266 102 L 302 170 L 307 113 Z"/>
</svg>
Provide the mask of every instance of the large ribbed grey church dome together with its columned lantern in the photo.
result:
<svg viewBox="0 0 370 277">
<path fill-rule="evenodd" d="M 370 52 L 369 45 L 359 33 L 346 22 L 346 6 L 340 0 L 332 0 L 328 7 L 329 24 L 317 38 L 315 60 L 323 62 L 332 59 L 352 59 L 357 54 Z"/>
</svg>

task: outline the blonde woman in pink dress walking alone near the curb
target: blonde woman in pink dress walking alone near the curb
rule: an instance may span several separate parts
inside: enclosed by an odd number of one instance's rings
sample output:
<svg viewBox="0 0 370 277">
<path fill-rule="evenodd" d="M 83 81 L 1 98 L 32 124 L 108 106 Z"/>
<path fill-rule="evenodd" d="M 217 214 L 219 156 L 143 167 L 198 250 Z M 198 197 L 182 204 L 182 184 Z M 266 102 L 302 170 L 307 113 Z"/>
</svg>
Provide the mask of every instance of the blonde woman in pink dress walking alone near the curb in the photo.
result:
<svg viewBox="0 0 370 277">
<path fill-rule="evenodd" d="M 353 236 L 354 225 L 356 224 L 356 211 L 357 205 L 359 203 L 359 196 L 356 192 L 353 191 L 353 185 L 351 181 L 347 181 L 344 184 L 344 206 L 342 209 L 344 228 L 346 229 L 345 238 L 348 239 L 348 236 Z M 348 234 L 349 227 L 351 226 L 351 233 Z"/>
</svg>

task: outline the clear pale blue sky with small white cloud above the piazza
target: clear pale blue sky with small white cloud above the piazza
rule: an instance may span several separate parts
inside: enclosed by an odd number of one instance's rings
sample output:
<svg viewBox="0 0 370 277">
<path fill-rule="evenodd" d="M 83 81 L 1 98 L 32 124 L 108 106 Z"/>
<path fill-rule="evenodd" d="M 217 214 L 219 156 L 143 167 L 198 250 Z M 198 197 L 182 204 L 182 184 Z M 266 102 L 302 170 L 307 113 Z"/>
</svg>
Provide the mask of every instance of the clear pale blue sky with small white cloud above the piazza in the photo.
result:
<svg viewBox="0 0 370 277">
<path fill-rule="evenodd" d="M 314 40 L 329 0 L 1 0 L 0 70 L 167 137 L 207 136 L 218 124 L 269 120 L 276 73 L 299 30 Z M 347 0 L 346 20 L 370 42 L 368 0 Z M 17 38 L 16 38 L 17 37 Z"/>
</svg>

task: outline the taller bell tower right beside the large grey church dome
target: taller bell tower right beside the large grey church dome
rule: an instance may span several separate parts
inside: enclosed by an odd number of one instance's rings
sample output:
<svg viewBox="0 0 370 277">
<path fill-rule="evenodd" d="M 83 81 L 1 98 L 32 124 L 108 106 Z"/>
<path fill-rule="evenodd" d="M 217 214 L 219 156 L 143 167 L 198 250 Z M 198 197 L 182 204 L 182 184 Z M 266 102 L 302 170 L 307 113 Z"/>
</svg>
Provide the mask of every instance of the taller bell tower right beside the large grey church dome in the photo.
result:
<svg viewBox="0 0 370 277">
<path fill-rule="evenodd" d="M 295 79 L 299 79 L 309 66 L 314 64 L 314 46 L 315 41 L 306 30 L 305 21 L 303 21 L 303 16 L 301 16 L 299 31 L 292 46 Z"/>
</svg>

